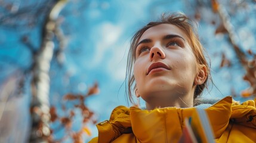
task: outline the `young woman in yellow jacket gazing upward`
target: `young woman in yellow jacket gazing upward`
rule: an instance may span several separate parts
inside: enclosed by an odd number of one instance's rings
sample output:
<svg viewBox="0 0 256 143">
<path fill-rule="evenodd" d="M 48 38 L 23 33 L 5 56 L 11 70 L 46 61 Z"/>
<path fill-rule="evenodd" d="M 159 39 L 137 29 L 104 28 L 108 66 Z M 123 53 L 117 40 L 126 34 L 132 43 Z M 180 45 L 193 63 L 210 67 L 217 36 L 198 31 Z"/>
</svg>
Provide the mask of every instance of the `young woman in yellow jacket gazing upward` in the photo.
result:
<svg viewBox="0 0 256 143">
<path fill-rule="evenodd" d="M 138 30 L 129 49 L 128 95 L 142 98 L 146 110 L 116 107 L 91 142 L 178 142 L 196 108 L 205 108 L 215 142 L 256 142 L 256 99 L 195 106 L 210 76 L 203 50 L 184 14 L 164 15 Z"/>
</svg>

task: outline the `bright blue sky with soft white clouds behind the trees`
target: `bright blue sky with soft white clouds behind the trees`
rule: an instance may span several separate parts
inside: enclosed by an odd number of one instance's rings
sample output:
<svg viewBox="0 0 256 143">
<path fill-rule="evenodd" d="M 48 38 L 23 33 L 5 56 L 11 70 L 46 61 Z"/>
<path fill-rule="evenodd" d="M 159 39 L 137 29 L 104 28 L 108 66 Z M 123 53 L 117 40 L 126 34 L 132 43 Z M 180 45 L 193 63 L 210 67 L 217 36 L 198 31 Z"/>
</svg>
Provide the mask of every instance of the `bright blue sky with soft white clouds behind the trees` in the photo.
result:
<svg viewBox="0 0 256 143">
<path fill-rule="evenodd" d="M 256 48 L 255 37 L 255 4 L 247 8 L 236 7 L 239 3 L 224 5 L 238 34 L 238 43 L 244 51 Z M 215 29 L 220 23 L 217 14 L 213 14 L 211 4 L 196 8 L 195 1 L 70 1 L 61 11 L 63 23 L 61 28 L 66 35 L 67 47 L 64 51 L 63 67 L 59 67 L 56 60 L 51 63 L 51 89 L 50 102 L 60 107 L 61 97 L 67 93 L 85 93 L 95 81 L 99 83 L 100 94 L 88 98 L 88 107 L 96 113 L 98 121 L 109 119 L 110 113 L 118 105 L 127 105 L 125 98 L 125 70 L 129 41 L 136 30 L 152 20 L 158 20 L 162 13 L 181 11 L 194 17 L 196 11 L 201 13 L 199 21 L 199 38 L 211 59 L 212 79 L 217 86 L 209 86 L 209 93 L 204 92 L 206 98 L 223 98 L 231 94 L 233 88 L 238 94 L 247 88 L 248 83 L 242 80 L 244 74 L 236 60 L 236 55 L 227 42 L 226 35 L 215 35 Z M 234 9 L 237 8 L 237 9 Z M 238 13 L 239 11 L 239 13 Z M 215 21 L 216 24 L 212 24 Z M 0 82 L 4 83 L 14 70 L 22 70 L 31 63 L 29 51 L 20 42 L 20 35 L 28 33 L 33 45 L 39 46 L 39 26 L 29 31 L 14 30 L 0 27 L 0 65 L 2 76 Z M 221 53 L 225 53 L 232 61 L 232 67 L 220 69 Z M 14 61 L 6 62 L 5 57 Z M 29 79 L 27 79 L 29 80 Z M 212 87 L 212 88 L 211 88 Z M 18 98 L 16 108 L 28 114 L 29 84 L 27 83 L 24 96 Z M 245 100 L 236 98 L 237 100 Z M 13 98 L 10 98 L 10 101 Z M 62 102 L 62 101 L 61 101 Z M 64 104 L 67 104 L 64 102 Z M 141 102 L 143 106 L 143 102 Z M 72 104 L 68 105 L 72 106 Z M 60 111 L 60 109 L 58 109 Z M 60 111 L 61 112 L 61 111 Z M 18 117 L 26 119 L 22 114 Z M 81 117 L 76 117 L 74 129 L 81 127 Z M 16 121 L 17 125 L 20 121 Z M 28 123 L 28 122 L 26 122 Z M 26 124 L 28 125 L 28 124 Z M 88 125 L 92 136 L 97 136 L 94 125 Z M 62 132 L 63 133 L 63 132 Z M 58 136 L 61 136 L 59 133 Z M 91 138 L 90 137 L 90 138 Z M 88 137 L 85 137 L 88 138 Z M 67 140 L 66 142 L 70 142 Z"/>
</svg>

